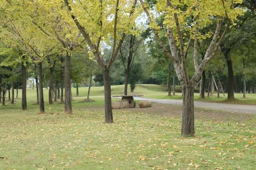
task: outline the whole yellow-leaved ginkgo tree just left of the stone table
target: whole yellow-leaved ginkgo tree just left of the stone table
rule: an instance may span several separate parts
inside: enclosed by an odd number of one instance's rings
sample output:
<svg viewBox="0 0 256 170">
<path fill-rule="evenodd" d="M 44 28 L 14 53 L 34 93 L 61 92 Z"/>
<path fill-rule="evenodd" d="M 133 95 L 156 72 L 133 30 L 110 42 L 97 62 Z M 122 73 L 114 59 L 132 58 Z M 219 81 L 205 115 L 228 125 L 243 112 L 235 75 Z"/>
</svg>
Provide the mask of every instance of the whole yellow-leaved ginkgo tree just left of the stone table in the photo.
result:
<svg viewBox="0 0 256 170">
<path fill-rule="evenodd" d="M 102 71 L 105 91 L 105 122 L 113 122 L 109 70 L 126 34 L 136 34 L 135 20 L 141 11 L 137 0 L 63 0 Z M 61 2 L 58 2 L 61 3 Z M 102 57 L 102 44 L 112 47 L 108 62 Z"/>
</svg>

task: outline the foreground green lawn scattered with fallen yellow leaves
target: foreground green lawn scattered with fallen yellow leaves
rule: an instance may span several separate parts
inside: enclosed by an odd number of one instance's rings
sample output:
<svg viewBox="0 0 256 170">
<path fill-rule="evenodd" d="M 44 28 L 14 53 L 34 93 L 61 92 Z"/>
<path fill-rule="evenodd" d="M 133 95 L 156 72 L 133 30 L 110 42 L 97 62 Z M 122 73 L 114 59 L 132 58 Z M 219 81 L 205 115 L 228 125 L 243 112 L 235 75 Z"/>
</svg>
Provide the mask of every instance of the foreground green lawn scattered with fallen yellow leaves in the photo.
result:
<svg viewBox="0 0 256 170">
<path fill-rule="evenodd" d="M 256 168 L 255 115 L 196 119 L 196 137 L 183 138 L 177 117 L 114 110 L 114 123 L 105 124 L 104 99 L 82 100 L 72 102 L 72 115 L 58 103 L 46 104 L 46 114 L 33 101 L 27 111 L 20 99 L 0 106 L 0 169 Z"/>
</svg>

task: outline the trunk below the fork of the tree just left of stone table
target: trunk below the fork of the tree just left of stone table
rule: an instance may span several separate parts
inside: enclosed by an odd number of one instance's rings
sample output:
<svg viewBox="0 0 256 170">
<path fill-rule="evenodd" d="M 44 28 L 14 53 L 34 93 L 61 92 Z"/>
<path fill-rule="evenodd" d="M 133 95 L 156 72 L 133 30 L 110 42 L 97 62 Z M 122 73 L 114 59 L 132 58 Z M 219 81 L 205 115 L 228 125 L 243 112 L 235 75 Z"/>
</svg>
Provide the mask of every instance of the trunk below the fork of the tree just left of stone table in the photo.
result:
<svg viewBox="0 0 256 170">
<path fill-rule="evenodd" d="M 111 106 L 111 83 L 109 70 L 102 72 L 104 80 L 104 93 L 105 93 L 105 123 L 113 123 L 113 113 Z"/>
</svg>

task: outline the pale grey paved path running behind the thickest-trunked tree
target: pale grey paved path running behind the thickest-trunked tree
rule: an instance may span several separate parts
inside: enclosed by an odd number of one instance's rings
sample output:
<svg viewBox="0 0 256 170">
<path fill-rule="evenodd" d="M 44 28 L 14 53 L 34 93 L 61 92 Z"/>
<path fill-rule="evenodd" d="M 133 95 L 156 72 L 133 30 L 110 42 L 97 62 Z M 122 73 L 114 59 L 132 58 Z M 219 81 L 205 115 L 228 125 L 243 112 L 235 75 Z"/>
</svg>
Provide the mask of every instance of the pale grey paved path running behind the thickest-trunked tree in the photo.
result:
<svg viewBox="0 0 256 170">
<path fill-rule="evenodd" d="M 148 99 L 148 98 L 142 98 L 142 97 L 134 97 L 134 100 L 149 100 L 155 103 L 182 105 L 182 100 L 173 100 L 173 99 Z M 200 107 L 200 108 L 220 109 L 220 110 L 226 110 L 226 111 L 256 114 L 255 105 L 222 104 L 222 103 L 198 102 L 198 101 L 195 101 L 194 105 L 195 107 Z"/>
</svg>

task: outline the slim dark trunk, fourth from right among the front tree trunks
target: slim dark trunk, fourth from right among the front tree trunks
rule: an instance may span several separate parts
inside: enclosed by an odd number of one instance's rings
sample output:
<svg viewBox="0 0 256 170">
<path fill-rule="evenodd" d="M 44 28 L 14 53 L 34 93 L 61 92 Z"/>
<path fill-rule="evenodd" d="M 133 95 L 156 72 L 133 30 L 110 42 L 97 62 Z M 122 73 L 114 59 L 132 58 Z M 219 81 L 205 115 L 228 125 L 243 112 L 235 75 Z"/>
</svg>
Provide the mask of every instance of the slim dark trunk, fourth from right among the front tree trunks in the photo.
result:
<svg viewBox="0 0 256 170">
<path fill-rule="evenodd" d="M 39 107 L 40 113 L 44 113 L 44 89 L 43 89 L 43 76 L 42 76 L 42 63 L 38 63 L 38 90 L 39 90 Z"/>
</svg>

